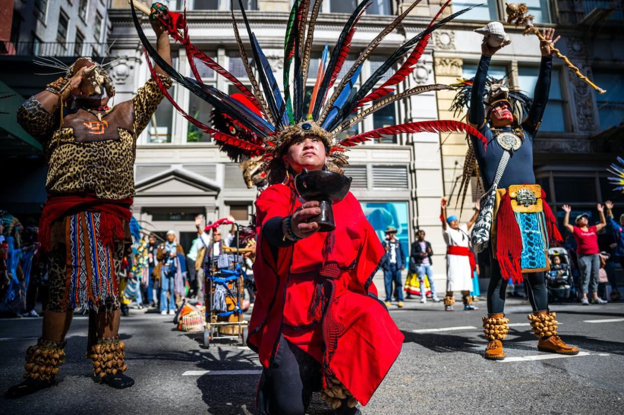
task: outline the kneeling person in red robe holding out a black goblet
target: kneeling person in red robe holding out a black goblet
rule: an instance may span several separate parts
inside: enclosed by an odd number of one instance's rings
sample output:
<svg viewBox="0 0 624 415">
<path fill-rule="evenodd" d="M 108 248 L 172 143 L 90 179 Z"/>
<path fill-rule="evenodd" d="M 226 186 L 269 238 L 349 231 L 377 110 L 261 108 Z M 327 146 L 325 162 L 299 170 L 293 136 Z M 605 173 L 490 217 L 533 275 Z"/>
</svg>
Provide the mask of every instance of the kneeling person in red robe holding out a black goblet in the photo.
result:
<svg viewBox="0 0 624 415">
<path fill-rule="evenodd" d="M 269 170 L 273 184 L 256 200 L 258 296 L 248 344 L 264 368 L 262 414 L 304 414 L 311 393 L 339 414 L 358 414 L 401 351 L 404 336 L 377 298 L 373 276 L 384 248 L 350 192 L 333 205 L 336 229 L 307 220 L 293 175 L 328 163 L 328 133 L 313 121 L 281 134 Z"/>
</svg>

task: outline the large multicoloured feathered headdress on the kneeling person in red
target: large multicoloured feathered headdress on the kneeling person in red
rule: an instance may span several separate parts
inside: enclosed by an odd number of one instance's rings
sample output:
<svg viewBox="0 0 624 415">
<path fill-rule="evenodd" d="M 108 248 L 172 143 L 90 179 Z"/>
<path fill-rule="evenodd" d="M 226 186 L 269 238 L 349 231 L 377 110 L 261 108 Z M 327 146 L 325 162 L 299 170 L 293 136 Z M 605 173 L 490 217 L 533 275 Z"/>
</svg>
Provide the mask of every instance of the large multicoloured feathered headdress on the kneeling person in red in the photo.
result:
<svg viewBox="0 0 624 415">
<path fill-rule="evenodd" d="M 230 1 L 232 2 L 235 0 Z M 236 22 L 236 17 L 233 12 L 234 7 L 233 4 L 231 4 L 232 7 L 230 7 L 230 9 L 232 9 L 234 36 L 238 44 L 241 61 L 243 62 L 243 66 L 249 78 L 251 89 L 217 64 L 212 58 L 193 46 L 188 37 L 186 11 L 182 14 L 168 12 L 165 17 L 160 17 L 161 24 L 167 29 L 170 36 L 173 37 L 175 41 L 182 44 L 187 50 L 188 62 L 195 79 L 182 76 L 182 74 L 175 71 L 175 69 L 158 56 L 157 51 L 155 51 L 154 47 L 152 47 L 147 40 L 147 37 L 145 37 L 139 19 L 137 18 L 134 2 L 131 1 L 132 17 L 139 38 L 145 48 L 145 54 L 148 58 L 148 66 L 152 72 L 152 77 L 160 86 L 165 97 L 172 102 L 178 112 L 191 124 L 198 127 L 198 129 L 207 134 L 212 134 L 217 142 L 225 144 L 223 149 L 228 150 L 228 154 L 232 152 L 231 150 L 233 147 L 236 147 L 239 149 L 240 153 L 244 154 L 246 157 L 261 157 L 263 168 L 265 170 L 273 170 L 274 168 L 280 167 L 278 165 L 281 164 L 281 155 L 283 155 L 285 149 L 288 149 L 288 145 L 290 145 L 293 138 L 303 135 L 316 135 L 323 140 L 328 149 L 329 165 L 333 168 L 339 168 L 347 164 L 344 151 L 348 149 L 348 147 L 353 147 L 371 138 L 381 137 L 381 135 L 425 131 L 466 131 L 485 140 L 485 137 L 482 137 L 476 129 L 454 120 L 408 122 L 406 124 L 392 125 L 390 127 L 383 127 L 381 129 L 352 135 L 340 141 L 336 140 L 337 135 L 341 131 L 361 122 L 364 118 L 382 109 L 386 105 L 392 104 L 392 102 L 430 90 L 452 89 L 449 85 L 436 84 L 415 87 L 394 94 L 394 92 L 396 92 L 394 90 L 394 85 L 406 79 L 416 68 L 416 63 L 422 56 L 429 39 L 431 39 L 431 33 L 455 17 L 469 11 L 472 7 L 455 12 L 437 21 L 442 11 L 450 3 L 451 0 L 448 0 L 424 31 L 398 47 L 366 81 L 362 82 L 358 91 L 352 94 L 354 84 L 358 81 L 364 62 L 371 56 L 374 49 L 379 46 L 384 37 L 394 30 L 399 22 L 416 7 L 420 0 L 414 1 L 411 6 L 407 7 L 402 14 L 397 16 L 391 24 L 379 33 L 378 36 L 361 51 L 359 57 L 354 61 L 343 78 L 338 80 L 338 75 L 343 69 L 343 65 L 351 49 L 351 41 L 356 31 L 358 21 L 369 6 L 369 0 L 361 1 L 344 24 L 343 30 L 340 32 L 331 52 L 329 52 L 328 46 L 325 46 L 323 56 L 319 62 L 319 69 L 316 74 L 316 83 L 312 90 L 311 102 L 310 105 L 306 105 L 305 85 L 310 70 L 314 27 L 321 1 L 314 2 L 311 11 L 310 0 L 295 0 L 293 2 L 284 37 L 282 90 L 280 90 L 280 85 L 275 79 L 265 53 L 262 51 L 255 34 L 251 30 L 241 0 L 236 1 L 238 1 L 240 6 L 243 22 L 245 23 L 245 30 L 251 44 L 253 64 L 258 72 L 258 79 L 256 79 L 251 71 L 251 66 L 247 58 L 247 51 L 241 40 L 240 32 L 238 31 L 238 23 Z M 162 7 L 158 7 L 158 10 L 162 11 Z M 154 16 L 154 11 L 155 8 L 153 6 L 152 16 Z M 410 51 L 412 52 L 410 53 Z M 391 70 L 402 57 L 408 54 L 407 60 L 404 61 L 399 70 L 396 71 L 388 81 L 376 87 L 384 74 Z M 162 68 L 168 76 L 212 105 L 215 112 L 223 115 L 225 119 L 232 120 L 232 125 L 235 127 L 232 130 L 224 132 L 222 129 L 215 128 L 215 126 L 205 125 L 184 112 L 168 94 L 162 82 L 160 82 L 149 57 L 152 57 L 155 64 Z M 195 65 L 196 59 L 230 81 L 236 89 L 238 89 L 240 95 L 244 97 L 246 103 L 241 103 L 240 96 L 231 97 L 212 86 L 203 84 Z M 293 72 L 293 82 L 291 82 L 290 79 L 291 71 Z M 328 97 L 328 93 L 332 87 L 334 87 L 334 84 L 337 86 L 333 94 Z M 368 107 L 364 107 L 368 102 L 372 102 L 372 104 Z M 230 157 L 232 157 L 232 154 L 230 154 Z"/>
</svg>

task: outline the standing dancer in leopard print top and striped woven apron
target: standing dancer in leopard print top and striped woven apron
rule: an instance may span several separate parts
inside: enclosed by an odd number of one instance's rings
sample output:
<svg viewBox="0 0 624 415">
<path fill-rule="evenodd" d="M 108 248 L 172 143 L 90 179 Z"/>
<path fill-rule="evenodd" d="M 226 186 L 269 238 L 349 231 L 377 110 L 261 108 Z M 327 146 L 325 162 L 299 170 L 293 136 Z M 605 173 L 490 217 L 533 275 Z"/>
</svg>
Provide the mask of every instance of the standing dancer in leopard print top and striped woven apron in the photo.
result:
<svg viewBox="0 0 624 415">
<path fill-rule="evenodd" d="M 162 11 L 152 12 L 158 54 L 171 64 L 168 35 L 157 19 Z M 167 76 L 162 81 L 171 85 Z M 119 271 L 131 243 L 136 139 L 163 93 L 150 79 L 131 100 L 111 108 L 106 104 L 114 93 L 104 69 L 81 57 L 66 77 L 17 112 L 46 156 L 48 198 L 39 240 L 51 287 L 41 337 L 26 351 L 25 379 L 9 388 L 7 398 L 55 383 L 74 311 L 89 311 L 87 356 L 94 379 L 119 389 L 134 384 L 124 374 L 125 344 L 119 339 Z"/>
</svg>

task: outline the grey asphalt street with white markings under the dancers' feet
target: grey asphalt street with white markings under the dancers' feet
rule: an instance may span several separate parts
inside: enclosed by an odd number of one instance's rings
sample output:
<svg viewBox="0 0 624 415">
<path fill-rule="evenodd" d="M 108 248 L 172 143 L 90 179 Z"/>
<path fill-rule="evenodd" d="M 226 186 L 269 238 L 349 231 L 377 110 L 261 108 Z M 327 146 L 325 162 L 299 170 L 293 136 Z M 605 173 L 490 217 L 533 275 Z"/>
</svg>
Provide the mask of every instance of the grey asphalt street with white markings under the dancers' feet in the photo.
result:
<svg viewBox="0 0 624 415">
<path fill-rule="evenodd" d="M 485 308 L 484 301 L 477 304 Z M 563 339 L 582 351 L 558 358 L 535 348 L 528 303 L 508 301 L 513 325 L 504 343 L 506 361 L 481 357 L 484 311 L 448 313 L 442 308 L 441 303 L 416 300 L 407 300 L 403 309 L 392 306 L 391 315 L 406 339 L 390 373 L 362 408 L 364 414 L 624 413 L 624 303 L 552 306 Z M 41 318 L 0 321 L 0 389 L 20 380 L 24 350 L 40 328 Z M 1 398 L 0 412 L 256 413 L 260 364 L 250 349 L 235 343 L 202 349 L 200 337 L 176 331 L 170 317 L 138 310 L 122 320 L 121 333 L 127 374 L 136 381 L 132 388 L 119 391 L 91 380 L 90 361 L 84 358 L 87 319 L 76 316 L 57 386 L 17 401 Z M 314 396 L 308 413 L 333 411 Z"/>
</svg>

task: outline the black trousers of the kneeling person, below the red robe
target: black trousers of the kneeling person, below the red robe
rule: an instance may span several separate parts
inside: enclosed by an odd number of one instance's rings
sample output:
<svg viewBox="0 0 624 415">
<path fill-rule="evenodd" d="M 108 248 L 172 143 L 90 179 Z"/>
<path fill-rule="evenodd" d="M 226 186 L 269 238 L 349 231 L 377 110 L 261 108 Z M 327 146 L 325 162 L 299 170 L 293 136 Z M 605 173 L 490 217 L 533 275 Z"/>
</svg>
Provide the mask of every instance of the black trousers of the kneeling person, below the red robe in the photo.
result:
<svg viewBox="0 0 624 415">
<path fill-rule="evenodd" d="M 283 336 L 271 366 L 262 371 L 256 405 L 262 415 L 304 415 L 313 392 L 321 390 L 321 364 Z M 336 410 L 340 415 L 360 414 L 348 408 L 346 399 Z"/>
</svg>

